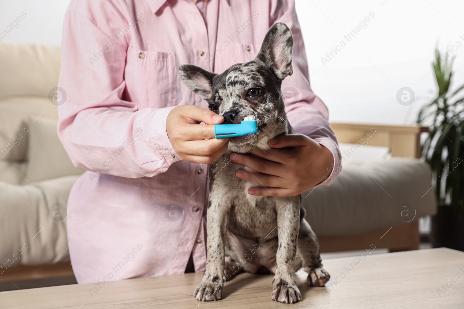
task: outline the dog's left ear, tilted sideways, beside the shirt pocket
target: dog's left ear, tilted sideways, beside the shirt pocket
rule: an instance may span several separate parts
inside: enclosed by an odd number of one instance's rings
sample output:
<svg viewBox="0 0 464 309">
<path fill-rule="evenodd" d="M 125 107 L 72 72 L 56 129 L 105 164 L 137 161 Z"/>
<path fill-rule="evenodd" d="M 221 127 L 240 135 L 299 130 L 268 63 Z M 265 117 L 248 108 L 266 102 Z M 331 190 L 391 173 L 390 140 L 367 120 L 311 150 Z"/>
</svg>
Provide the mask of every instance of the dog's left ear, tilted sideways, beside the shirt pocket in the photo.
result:
<svg viewBox="0 0 464 309">
<path fill-rule="evenodd" d="M 180 79 L 193 92 L 208 101 L 213 91 L 213 78 L 217 74 L 201 69 L 193 64 L 182 64 L 179 68 Z"/>
</svg>

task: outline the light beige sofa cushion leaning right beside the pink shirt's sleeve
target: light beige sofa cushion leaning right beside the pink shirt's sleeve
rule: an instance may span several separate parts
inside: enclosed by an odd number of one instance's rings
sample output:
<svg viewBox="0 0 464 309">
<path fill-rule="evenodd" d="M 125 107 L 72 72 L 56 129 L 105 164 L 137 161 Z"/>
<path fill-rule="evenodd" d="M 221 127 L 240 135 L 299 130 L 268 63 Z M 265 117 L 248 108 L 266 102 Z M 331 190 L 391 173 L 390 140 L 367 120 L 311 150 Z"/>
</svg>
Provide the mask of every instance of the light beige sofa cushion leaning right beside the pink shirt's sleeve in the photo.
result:
<svg viewBox="0 0 464 309">
<path fill-rule="evenodd" d="M 28 122 L 28 164 L 22 184 L 70 175 L 84 170 L 74 167 L 57 133 L 58 120 L 40 116 Z"/>
</svg>

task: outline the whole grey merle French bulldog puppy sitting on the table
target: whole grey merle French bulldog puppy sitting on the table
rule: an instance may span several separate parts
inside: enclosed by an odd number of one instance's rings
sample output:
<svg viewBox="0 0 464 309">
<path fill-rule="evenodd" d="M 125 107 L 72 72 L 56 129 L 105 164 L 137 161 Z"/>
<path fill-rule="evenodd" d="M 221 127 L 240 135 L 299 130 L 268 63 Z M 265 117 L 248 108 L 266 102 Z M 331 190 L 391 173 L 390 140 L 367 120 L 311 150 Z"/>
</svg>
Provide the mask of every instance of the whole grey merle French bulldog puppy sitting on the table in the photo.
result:
<svg viewBox="0 0 464 309">
<path fill-rule="evenodd" d="M 323 286 L 330 278 L 322 268 L 316 235 L 304 219 L 301 196 L 249 195 L 247 190 L 256 184 L 238 179 L 235 172 L 250 169 L 229 159 L 234 151 L 265 150 L 268 139 L 294 133 L 281 95 L 282 80 L 293 73 L 292 46 L 290 29 L 278 23 L 251 62 L 232 65 L 220 75 L 191 64 L 180 66 L 185 85 L 224 116 L 224 124 L 238 124 L 252 115 L 259 129 L 231 138 L 224 155 L 210 164 L 207 262 L 194 292 L 198 300 L 221 299 L 225 281 L 241 271 L 275 274 L 271 297 L 281 303 L 301 299 L 295 281 L 295 271 L 301 267 L 309 273 L 309 285 Z"/>
</svg>

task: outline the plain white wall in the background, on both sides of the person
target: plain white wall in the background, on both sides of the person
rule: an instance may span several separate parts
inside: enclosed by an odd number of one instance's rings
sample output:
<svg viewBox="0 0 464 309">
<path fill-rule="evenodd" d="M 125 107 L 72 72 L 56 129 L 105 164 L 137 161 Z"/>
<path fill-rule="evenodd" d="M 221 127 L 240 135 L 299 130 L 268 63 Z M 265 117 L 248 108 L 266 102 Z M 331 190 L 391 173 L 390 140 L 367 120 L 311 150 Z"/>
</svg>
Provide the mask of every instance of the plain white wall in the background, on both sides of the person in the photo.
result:
<svg viewBox="0 0 464 309">
<path fill-rule="evenodd" d="M 237 1 L 237 0 L 235 0 Z M 0 30 L 25 12 L 5 42 L 60 44 L 69 0 L 0 0 Z M 464 44 L 462 0 L 296 0 L 314 92 L 329 106 L 331 120 L 412 123 L 435 91 L 433 50 Z M 351 40 L 343 38 L 375 14 Z M 460 36 L 463 36 L 462 38 Z M 321 57 L 347 45 L 323 65 Z M 464 82 L 464 46 L 455 53 L 455 86 Z M 327 58 L 327 57 L 326 57 Z M 328 58 L 327 58 L 328 59 Z M 410 87 L 416 100 L 402 106 L 396 93 Z"/>
</svg>

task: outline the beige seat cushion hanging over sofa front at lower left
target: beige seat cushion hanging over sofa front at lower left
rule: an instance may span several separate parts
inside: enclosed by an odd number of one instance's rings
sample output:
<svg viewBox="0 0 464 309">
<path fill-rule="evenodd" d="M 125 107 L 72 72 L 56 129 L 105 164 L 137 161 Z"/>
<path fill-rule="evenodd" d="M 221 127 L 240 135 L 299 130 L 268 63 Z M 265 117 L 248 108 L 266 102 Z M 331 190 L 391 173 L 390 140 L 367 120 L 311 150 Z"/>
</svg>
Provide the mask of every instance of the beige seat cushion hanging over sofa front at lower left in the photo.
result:
<svg viewBox="0 0 464 309">
<path fill-rule="evenodd" d="M 7 235 L 0 246 L 0 272 L 19 264 L 52 264 L 69 259 L 65 206 L 77 178 L 68 176 L 26 185 L 0 182 L 1 227 L 3 236 Z"/>
</svg>

